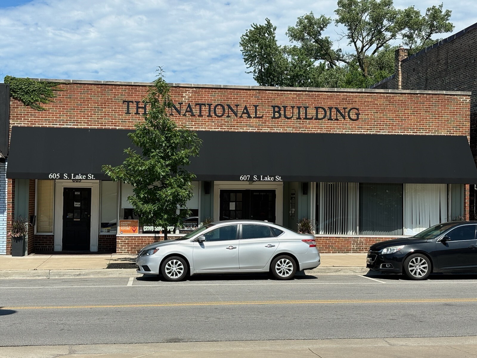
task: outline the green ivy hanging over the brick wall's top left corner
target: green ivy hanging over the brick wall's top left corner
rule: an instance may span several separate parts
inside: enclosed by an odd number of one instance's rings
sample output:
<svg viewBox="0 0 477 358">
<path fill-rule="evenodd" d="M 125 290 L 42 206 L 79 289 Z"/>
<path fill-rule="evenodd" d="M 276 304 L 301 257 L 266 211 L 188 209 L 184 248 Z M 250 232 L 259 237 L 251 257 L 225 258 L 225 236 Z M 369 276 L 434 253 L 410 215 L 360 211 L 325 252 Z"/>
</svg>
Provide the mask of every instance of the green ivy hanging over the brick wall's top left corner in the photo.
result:
<svg viewBox="0 0 477 358">
<path fill-rule="evenodd" d="M 5 76 L 3 82 L 10 85 L 10 96 L 23 105 L 37 111 L 45 111 L 41 104 L 48 104 L 56 97 L 56 92 L 66 91 L 58 82 L 34 81 L 30 78 Z"/>
</svg>

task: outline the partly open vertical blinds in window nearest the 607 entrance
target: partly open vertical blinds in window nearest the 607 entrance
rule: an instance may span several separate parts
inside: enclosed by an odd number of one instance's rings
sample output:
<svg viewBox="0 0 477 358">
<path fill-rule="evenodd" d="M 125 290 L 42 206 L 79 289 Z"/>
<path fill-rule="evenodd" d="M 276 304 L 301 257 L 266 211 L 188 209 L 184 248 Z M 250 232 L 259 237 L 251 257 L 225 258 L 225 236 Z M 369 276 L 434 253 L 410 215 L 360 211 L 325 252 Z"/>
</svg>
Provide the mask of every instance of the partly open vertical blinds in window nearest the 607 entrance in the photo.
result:
<svg viewBox="0 0 477 358">
<path fill-rule="evenodd" d="M 358 183 L 320 183 L 318 232 L 321 235 L 358 233 Z"/>
</svg>

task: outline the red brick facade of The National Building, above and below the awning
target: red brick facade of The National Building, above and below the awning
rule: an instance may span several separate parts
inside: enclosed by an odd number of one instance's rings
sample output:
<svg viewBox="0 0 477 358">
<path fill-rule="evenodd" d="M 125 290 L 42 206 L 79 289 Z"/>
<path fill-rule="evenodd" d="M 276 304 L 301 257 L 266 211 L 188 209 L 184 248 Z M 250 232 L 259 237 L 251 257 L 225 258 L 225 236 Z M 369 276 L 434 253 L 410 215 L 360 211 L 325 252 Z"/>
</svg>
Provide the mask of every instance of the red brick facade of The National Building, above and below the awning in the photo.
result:
<svg viewBox="0 0 477 358">
<path fill-rule="evenodd" d="M 60 81 L 60 80 L 59 80 Z M 136 103 L 147 92 L 147 84 L 123 84 L 77 81 L 64 82 L 65 92 L 60 92 L 55 102 L 45 105 L 47 111 L 39 112 L 12 100 L 11 126 L 50 126 L 82 128 L 133 129 L 142 120 L 135 114 Z M 469 137 L 470 95 L 462 92 L 416 92 L 373 89 L 317 89 L 275 88 L 220 85 L 171 84 L 173 103 L 182 116 L 173 110 L 172 118 L 178 126 L 193 130 L 253 131 L 253 132 L 308 132 L 308 133 L 379 133 L 410 135 L 456 135 Z M 129 103 L 130 114 L 126 114 Z M 182 103 L 180 105 L 179 103 Z M 190 104 L 190 107 L 187 106 Z M 205 104 L 196 105 L 196 104 Z M 208 106 L 207 104 L 211 104 Z M 138 103 L 138 106 L 142 103 Z M 229 105 L 229 106 L 228 106 Z M 247 106 L 247 110 L 245 109 Z M 255 107 L 258 106 L 257 116 Z M 280 118 L 272 105 L 291 107 L 294 117 L 287 119 L 280 107 Z M 300 118 L 297 106 L 300 106 Z M 343 119 L 333 112 L 333 119 L 304 119 L 315 115 L 315 106 L 324 108 L 359 108 L 359 119 Z M 200 107 L 201 111 L 200 112 Z M 190 108 L 190 110 L 189 110 Z M 209 108 L 211 115 L 209 116 Z M 216 114 L 214 115 L 214 108 Z M 222 111 L 223 109 L 223 111 Z M 233 109 L 237 111 L 234 115 Z M 451 109 L 451 110 L 449 110 Z M 142 109 L 139 108 L 139 113 Z M 317 109 L 318 111 L 318 109 Z M 357 111 L 353 110 L 355 116 Z M 223 116 L 222 116 L 223 113 Z M 345 112 L 346 113 L 346 112 Z M 275 116 L 275 118 L 273 118 Z M 32 180 L 34 182 L 34 180 Z M 468 190 L 468 186 L 467 186 Z M 13 193 L 13 196 L 11 196 Z M 34 193 L 34 187 L 33 187 Z M 33 194 L 34 195 L 34 194 Z M 12 212 L 14 183 L 9 179 L 7 206 Z M 468 198 L 466 215 L 468 215 Z M 34 203 L 33 203 L 34 205 Z M 34 211 L 34 207 L 33 207 Z M 170 235 L 174 237 L 174 235 Z M 100 252 L 137 253 L 145 245 L 162 240 L 162 235 L 99 235 Z M 324 237 L 316 240 L 322 252 L 364 252 L 369 245 L 387 237 Z M 7 242 L 8 245 L 8 242 Z M 29 245 L 30 246 L 30 245 Z M 35 251 L 53 251 L 52 235 L 36 235 Z M 7 247 L 8 252 L 8 247 Z"/>
</svg>

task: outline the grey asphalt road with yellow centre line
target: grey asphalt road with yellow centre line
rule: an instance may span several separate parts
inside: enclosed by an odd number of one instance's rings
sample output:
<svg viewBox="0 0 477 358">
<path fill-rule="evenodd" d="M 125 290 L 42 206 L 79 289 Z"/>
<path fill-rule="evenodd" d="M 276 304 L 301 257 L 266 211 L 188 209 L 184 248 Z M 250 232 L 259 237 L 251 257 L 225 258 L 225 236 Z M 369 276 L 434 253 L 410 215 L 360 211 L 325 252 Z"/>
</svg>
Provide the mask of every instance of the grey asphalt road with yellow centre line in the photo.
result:
<svg viewBox="0 0 477 358">
<path fill-rule="evenodd" d="M 477 276 L 0 281 L 0 346 L 473 336 Z"/>
</svg>

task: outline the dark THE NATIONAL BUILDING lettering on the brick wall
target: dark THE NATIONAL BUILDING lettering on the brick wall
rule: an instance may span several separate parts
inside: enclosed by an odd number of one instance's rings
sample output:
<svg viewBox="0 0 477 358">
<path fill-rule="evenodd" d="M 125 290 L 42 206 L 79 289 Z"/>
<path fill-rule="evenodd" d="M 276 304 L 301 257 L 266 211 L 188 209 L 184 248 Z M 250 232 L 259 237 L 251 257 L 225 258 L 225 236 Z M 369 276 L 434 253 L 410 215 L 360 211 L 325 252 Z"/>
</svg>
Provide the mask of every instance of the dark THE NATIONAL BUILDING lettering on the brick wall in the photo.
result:
<svg viewBox="0 0 477 358">
<path fill-rule="evenodd" d="M 145 115 L 147 105 L 141 101 L 123 101 L 125 114 Z M 357 121 L 360 116 L 357 107 L 338 107 L 330 105 L 270 105 L 271 119 L 309 119 L 309 120 L 346 120 Z M 132 112 L 134 111 L 134 112 Z M 223 117 L 226 118 L 263 118 L 260 105 L 239 105 L 222 103 L 183 103 L 173 104 L 171 116 Z"/>
</svg>

